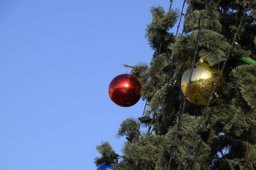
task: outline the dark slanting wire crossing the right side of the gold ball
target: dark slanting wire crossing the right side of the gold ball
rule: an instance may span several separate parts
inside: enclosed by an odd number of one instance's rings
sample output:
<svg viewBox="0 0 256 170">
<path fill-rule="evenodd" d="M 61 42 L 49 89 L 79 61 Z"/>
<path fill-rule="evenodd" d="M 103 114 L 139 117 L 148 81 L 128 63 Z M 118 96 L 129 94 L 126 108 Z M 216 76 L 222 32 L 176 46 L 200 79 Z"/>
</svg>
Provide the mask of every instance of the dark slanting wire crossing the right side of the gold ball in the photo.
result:
<svg viewBox="0 0 256 170">
<path fill-rule="evenodd" d="M 210 96 L 209 96 L 208 103 L 207 103 L 207 105 L 206 105 L 205 108 L 204 108 L 204 112 L 203 112 L 202 115 L 201 115 L 201 119 L 200 119 L 200 121 L 199 121 L 199 124 L 197 125 L 197 127 L 196 127 L 196 129 L 195 129 L 195 131 L 194 131 L 194 133 L 193 133 L 193 136 L 192 136 L 192 138 L 191 138 L 191 141 L 189 142 L 189 144 L 188 144 L 188 146 L 187 146 L 187 148 L 186 148 L 186 150 L 185 150 L 185 153 L 184 153 L 184 155 L 183 155 L 183 158 L 181 159 L 181 162 L 180 162 L 179 166 L 177 167 L 177 170 L 179 170 L 179 169 L 181 168 L 181 166 L 182 166 L 182 164 L 183 164 L 183 162 L 184 162 L 185 156 L 187 156 L 188 151 L 189 151 L 189 148 L 191 147 L 192 142 L 193 142 L 193 140 L 195 139 L 196 133 L 197 133 L 199 127 L 201 126 L 201 122 L 203 121 L 204 115 L 205 115 L 205 113 L 207 112 L 207 109 L 208 109 L 208 107 L 209 107 L 209 105 L 210 105 L 210 100 L 212 99 L 212 95 L 214 94 L 214 91 L 216 90 L 217 84 L 218 84 L 218 82 L 220 81 L 220 78 L 221 78 L 221 74 L 222 74 L 223 71 L 224 71 L 224 67 L 225 67 L 225 65 L 226 65 L 226 62 L 228 61 L 229 56 L 230 56 L 230 54 L 231 54 L 231 52 L 232 52 L 234 43 L 235 43 L 235 41 L 236 41 L 236 39 L 237 39 L 238 32 L 240 31 L 240 28 L 241 28 L 241 25 L 242 25 L 242 22 L 243 22 L 243 18 L 245 17 L 246 12 L 247 12 L 247 10 L 248 10 L 247 7 L 249 6 L 249 3 L 250 3 L 250 2 L 247 2 L 247 3 L 246 3 L 246 7 L 245 7 L 246 10 L 243 11 L 243 16 L 242 16 L 241 21 L 240 21 L 240 24 L 239 24 L 239 26 L 238 26 L 236 35 L 234 35 L 234 39 L 233 39 L 232 44 L 231 44 L 231 46 L 230 46 L 230 48 L 229 48 L 228 55 L 225 56 L 225 61 L 224 61 L 224 64 L 223 64 L 223 66 L 222 66 L 222 68 L 221 68 L 221 72 L 220 72 L 220 74 L 219 74 L 219 76 L 218 76 L 217 81 L 215 82 L 215 86 L 214 86 L 214 88 L 213 88 L 213 90 L 212 90 L 212 92 L 211 92 L 211 94 L 210 94 Z"/>
</svg>

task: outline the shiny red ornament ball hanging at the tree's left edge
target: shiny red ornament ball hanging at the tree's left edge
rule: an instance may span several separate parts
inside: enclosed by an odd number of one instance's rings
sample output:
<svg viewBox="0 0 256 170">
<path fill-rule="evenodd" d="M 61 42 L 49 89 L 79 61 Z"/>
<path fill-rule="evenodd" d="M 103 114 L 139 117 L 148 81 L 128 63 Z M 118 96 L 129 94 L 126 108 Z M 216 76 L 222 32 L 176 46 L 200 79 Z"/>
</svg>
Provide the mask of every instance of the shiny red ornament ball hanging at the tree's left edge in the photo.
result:
<svg viewBox="0 0 256 170">
<path fill-rule="evenodd" d="M 109 97 L 121 107 L 130 107 L 141 98 L 141 83 L 135 76 L 120 74 L 109 84 Z"/>
</svg>

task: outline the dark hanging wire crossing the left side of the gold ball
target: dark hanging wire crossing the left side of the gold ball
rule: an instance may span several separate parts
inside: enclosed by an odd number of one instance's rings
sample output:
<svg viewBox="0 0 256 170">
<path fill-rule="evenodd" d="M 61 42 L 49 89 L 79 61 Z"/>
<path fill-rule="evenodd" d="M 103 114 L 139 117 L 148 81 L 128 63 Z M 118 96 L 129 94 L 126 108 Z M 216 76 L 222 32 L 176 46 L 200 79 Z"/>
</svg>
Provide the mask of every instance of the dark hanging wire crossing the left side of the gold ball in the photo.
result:
<svg viewBox="0 0 256 170">
<path fill-rule="evenodd" d="M 213 0 L 211 0 L 210 2 L 212 2 Z M 194 52 L 194 58 L 193 58 L 193 63 L 192 63 L 192 69 L 191 69 L 191 73 L 189 75 L 189 80 L 188 80 L 188 90 L 187 90 L 187 93 L 185 95 L 185 99 L 184 99 L 184 103 L 183 103 L 183 108 L 180 112 L 180 116 L 179 116 L 179 120 L 178 120 L 178 124 L 177 124 L 177 131 L 175 133 L 175 139 L 174 139 L 174 144 L 172 146 L 172 151 L 171 151 L 171 154 L 170 154 L 170 160 L 169 160 L 169 163 L 168 163 L 168 166 L 167 166 L 167 170 L 170 169 L 170 165 L 171 165 L 171 160 L 172 160 L 172 156 L 174 154 L 174 151 L 175 151 L 175 148 L 176 148 L 176 145 L 177 145 L 177 138 L 178 138 L 178 134 L 179 134 L 179 131 L 181 130 L 181 125 L 182 125 L 182 117 L 183 117 L 183 113 L 184 113 L 184 110 L 185 110 L 185 105 L 187 103 L 187 97 L 188 97 L 188 92 L 189 92 L 189 87 L 190 87 L 190 82 L 191 82 L 191 78 L 192 78 L 192 74 L 193 74 L 193 68 L 195 66 L 195 62 L 196 62 L 196 56 L 197 56 L 197 52 L 198 52 L 198 48 L 199 48 L 199 42 L 200 42 L 200 35 L 201 35 L 201 31 L 203 29 L 203 25 L 204 25 L 204 19 L 205 19 L 205 14 L 206 14 L 206 11 L 207 11 L 207 8 L 208 8 L 208 3 L 206 2 L 205 3 L 205 9 L 204 9 L 204 14 L 202 16 L 202 21 L 201 21 L 201 25 L 200 25 L 200 28 L 199 28 L 199 32 L 198 32 L 198 35 L 197 35 L 197 42 L 196 42 L 196 48 L 195 48 L 195 52 Z M 199 19 L 199 23 L 200 23 L 200 19 Z"/>
</svg>

